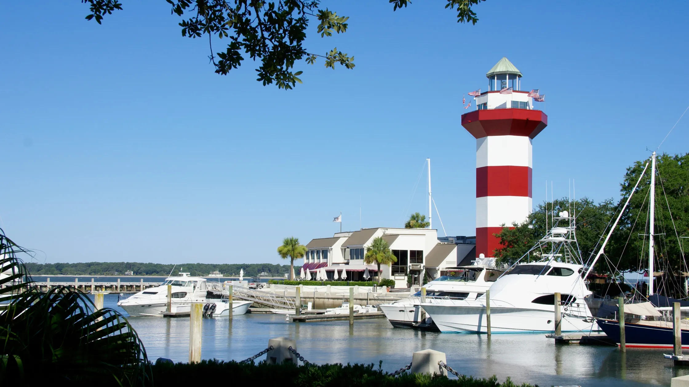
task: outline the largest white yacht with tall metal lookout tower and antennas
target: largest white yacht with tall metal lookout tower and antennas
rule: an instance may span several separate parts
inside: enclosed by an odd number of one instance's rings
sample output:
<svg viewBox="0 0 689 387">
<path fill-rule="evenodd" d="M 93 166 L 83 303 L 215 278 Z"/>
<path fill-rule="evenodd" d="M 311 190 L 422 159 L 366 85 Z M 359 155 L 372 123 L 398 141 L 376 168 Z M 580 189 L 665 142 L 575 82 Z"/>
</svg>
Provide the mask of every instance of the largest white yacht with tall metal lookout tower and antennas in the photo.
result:
<svg viewBox="0 0 689 387">
<path fill-rule="evenodd" d="M 577 248 L 574 218 L 562 211 L 555 220 L 568 222 L 568 226 L 556 224 L 524 254 L 536 255 L 537 261 L 518 264 L 517 260 L 491 286 L 491 333 L 555 331 L 555 293 L 561 293 L 563 332 L 599 330 L 584 301 L 591 291 L 581 275 L 584 266 Z M 476 300 L 432 301 L 422 303 L 421 307 L 440 331 L 486 332 L 485 295 Z"/>
</svg>

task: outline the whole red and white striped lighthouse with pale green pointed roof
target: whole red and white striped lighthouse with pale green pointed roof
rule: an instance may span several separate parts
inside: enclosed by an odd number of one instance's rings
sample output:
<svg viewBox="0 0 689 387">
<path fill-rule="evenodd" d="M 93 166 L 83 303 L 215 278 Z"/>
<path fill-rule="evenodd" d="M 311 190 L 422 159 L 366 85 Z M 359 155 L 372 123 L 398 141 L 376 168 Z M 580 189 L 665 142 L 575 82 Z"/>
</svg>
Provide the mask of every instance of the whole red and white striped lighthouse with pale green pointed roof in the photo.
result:
<svg viewBox="0 0 689 387">
<path fill-rule="evenodd" d="M 476 96 L 475 111 L 462 115 L 462 126 L 476 138 L 477 257 L 495 256 L 501 245 L 493 234 L 531 213 L 531 140 L 548 125 L 507 58 L 486 76 L 489 90 Z"/>
</svg>

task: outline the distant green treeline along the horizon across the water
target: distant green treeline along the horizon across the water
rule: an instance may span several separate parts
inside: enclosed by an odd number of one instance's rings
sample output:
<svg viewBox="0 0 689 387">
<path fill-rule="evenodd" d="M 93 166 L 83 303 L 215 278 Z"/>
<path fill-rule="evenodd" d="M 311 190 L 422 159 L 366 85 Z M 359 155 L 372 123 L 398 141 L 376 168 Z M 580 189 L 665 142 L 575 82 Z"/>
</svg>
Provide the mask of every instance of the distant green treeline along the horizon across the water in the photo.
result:
<svg viewBox="0 0 689 387">
<path fill-rule="evenodd" d="M 174 266 L 174 271 L 172 271 Z M 81 263 L 48 263 L 26 264 L 32 275 L 124 275 L 127 271 L 133 271 L 134 275 L 169 275 L 170 271 L 175 275 L 179 272 L 191 273 L 191 275 L 207 276 L 212 271 L 219 271 L 225 277 L 239 275 L 240 269 L 244 269 L 245 277 L 256 277 L 259 273 L 270 277 L 281 277 L 289 271 L 289 264 L 159 264 L 140 262 L 81 262 Z M 300 266 L 295 266 L 298 273 Z"/>
</svg>

